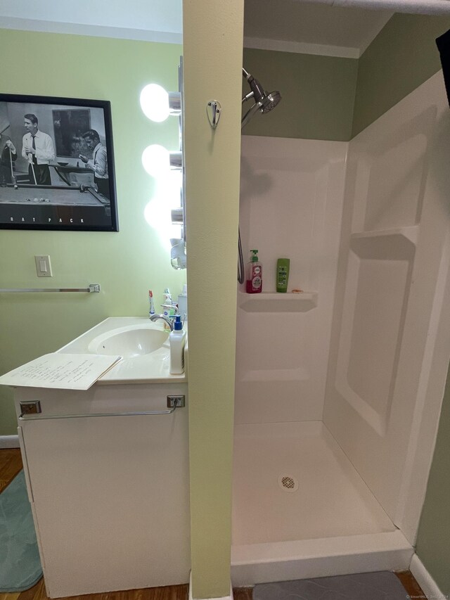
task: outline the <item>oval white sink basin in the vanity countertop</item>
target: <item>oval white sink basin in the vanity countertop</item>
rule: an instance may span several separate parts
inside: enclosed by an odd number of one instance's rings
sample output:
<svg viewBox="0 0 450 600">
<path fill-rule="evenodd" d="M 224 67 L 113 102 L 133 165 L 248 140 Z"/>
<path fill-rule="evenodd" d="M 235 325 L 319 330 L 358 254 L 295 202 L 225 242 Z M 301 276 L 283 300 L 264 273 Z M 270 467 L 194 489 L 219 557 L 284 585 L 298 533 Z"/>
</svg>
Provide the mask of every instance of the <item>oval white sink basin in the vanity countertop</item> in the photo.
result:
<svg viewBox="0 0 450 600">
<path fill-rule="evenodd" d="M 88 351 L 99 355 L 134 358 L 148 355 L 169 343 L 169 332 L 153 323 L 112 329 L 89 343 Z"/>
</svg>

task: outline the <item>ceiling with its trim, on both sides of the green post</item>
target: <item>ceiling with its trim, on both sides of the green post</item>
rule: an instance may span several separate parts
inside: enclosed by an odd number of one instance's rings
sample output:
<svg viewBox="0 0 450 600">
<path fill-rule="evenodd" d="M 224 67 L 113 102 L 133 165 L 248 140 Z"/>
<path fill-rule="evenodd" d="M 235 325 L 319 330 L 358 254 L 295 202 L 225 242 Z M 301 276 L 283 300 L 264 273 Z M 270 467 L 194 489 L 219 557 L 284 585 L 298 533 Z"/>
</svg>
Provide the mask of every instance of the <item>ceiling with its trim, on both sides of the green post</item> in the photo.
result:
<svg viewBox="0 0 450 600">
<path fill-rule="evenodd" d="M 130 10 L 132 6 L 132 10 Z M 245 46 L 358 58 L 392 13 L 245 0 Z M 0 27 L 182 42 L 182 0 L 0 0 Z"/>
</svg>

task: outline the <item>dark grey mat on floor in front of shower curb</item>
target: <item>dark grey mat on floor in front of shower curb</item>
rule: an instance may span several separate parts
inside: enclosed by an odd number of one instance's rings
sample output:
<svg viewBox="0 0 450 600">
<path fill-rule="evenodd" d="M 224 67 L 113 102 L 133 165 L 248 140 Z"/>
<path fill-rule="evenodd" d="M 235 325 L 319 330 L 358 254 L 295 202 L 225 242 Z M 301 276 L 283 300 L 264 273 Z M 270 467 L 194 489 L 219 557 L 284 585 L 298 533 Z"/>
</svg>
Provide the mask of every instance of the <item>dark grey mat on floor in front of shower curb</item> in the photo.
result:
<svg viewBox="0 0 450 600">
<path fill-rule="evenodd" d="M 406 598 L 409 598 L 406 589 L 397 576 L 390 571 L 263 583 L 253 588 L 253 600 L 405 600 Z"/>
</svg>

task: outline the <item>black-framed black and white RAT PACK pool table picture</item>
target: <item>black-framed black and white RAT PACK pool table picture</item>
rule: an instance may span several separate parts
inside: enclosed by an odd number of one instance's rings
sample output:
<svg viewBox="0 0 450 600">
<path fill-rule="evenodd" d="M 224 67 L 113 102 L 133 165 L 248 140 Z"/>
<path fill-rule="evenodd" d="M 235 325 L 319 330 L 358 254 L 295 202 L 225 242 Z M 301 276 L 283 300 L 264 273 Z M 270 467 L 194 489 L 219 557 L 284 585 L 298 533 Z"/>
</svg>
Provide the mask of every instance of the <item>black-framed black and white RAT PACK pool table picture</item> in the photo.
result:
<svg viewBox="0 0 450 600">
<path fill-rule="evenodd" d="M 0 94 L 0 229 L 118 231 L 108 101 Z"/>
</svg>

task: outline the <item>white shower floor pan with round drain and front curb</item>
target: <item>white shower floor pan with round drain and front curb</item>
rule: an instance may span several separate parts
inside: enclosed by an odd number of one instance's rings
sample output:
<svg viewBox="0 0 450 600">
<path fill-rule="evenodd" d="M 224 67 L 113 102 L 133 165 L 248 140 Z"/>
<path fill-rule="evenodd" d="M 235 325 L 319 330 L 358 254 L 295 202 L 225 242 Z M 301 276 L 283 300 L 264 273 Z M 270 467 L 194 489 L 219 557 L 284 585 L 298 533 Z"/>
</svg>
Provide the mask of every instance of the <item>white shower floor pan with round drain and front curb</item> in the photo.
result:
<svg viewBox="0 0 450 600">
<path fill-rule="evenodd" d="M 233 585 L 406 569 L 412 555 L 321 421 L 235 427 Z"/>
</svg>

